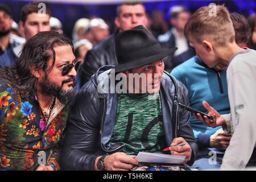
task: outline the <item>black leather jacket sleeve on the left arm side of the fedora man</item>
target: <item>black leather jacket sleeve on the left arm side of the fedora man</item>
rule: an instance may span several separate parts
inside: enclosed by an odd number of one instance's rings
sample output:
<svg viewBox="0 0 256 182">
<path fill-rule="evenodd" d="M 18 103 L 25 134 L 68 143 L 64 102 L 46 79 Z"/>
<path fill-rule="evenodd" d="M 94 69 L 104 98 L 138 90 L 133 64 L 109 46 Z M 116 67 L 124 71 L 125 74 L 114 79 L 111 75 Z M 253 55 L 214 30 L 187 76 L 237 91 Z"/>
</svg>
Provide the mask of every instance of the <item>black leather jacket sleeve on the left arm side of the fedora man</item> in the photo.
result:
<svg viewBox="0 0 256 182">
<path fill-rule="evenodd" d="M 90 87 L 81 89 L 71 107 L 61 153 L 62 169 L 94 170 L 101 108 L 96 92 Z"/>
</svg>

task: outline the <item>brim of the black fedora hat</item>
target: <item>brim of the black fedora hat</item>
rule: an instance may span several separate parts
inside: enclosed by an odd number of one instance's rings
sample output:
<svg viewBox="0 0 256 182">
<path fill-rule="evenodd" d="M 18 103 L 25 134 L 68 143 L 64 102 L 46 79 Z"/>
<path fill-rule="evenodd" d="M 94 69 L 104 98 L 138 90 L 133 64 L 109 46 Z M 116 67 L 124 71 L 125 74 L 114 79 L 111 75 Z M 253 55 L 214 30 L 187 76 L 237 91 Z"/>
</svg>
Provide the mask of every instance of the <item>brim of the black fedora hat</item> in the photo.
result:
<svg viewBox="0 0 256 182">
<path fill-rule="evenodd" d="M 113 69 L 115 69 L 115 73 L 117 73 L 117 72 L 129 70 L 129 69 L 142 67 L 143 65 L 150 64 L 156 60 L 162 59 L 170 55 L 171 53 L 174 53 L 174 51 L 176 50 L 177 50 L 177 47 L 168 48 L 168 49 L 163 48 L 162 51 L 155 53 L 154 55 L 149 55 L 147 57 L 129 61 L 127 63 L 118 64 Z"/>
</svg>

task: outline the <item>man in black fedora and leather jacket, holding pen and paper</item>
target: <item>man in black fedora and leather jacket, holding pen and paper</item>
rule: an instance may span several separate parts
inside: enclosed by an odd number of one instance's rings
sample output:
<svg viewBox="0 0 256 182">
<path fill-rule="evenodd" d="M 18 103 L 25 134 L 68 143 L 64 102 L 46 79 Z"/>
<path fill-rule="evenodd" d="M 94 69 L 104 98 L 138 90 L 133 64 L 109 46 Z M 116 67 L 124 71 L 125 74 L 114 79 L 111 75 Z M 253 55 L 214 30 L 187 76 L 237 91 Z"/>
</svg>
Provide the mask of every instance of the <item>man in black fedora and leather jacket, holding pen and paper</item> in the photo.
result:
<svg viewBox="0 0 256 182">
<path fill-rule="evenodd" d="M 187 89 L 167 72 L 165 49 L 142 25 L 115 36 L 118 65 L 106 65 L 82 86 L 68 117 L 63 169 L 128 170 L 138 152 L 183 155 L 193 164 L 197 144 L 189 125 Z M 175 146 L 185 143 L 183 146 Z"/>
</svg>

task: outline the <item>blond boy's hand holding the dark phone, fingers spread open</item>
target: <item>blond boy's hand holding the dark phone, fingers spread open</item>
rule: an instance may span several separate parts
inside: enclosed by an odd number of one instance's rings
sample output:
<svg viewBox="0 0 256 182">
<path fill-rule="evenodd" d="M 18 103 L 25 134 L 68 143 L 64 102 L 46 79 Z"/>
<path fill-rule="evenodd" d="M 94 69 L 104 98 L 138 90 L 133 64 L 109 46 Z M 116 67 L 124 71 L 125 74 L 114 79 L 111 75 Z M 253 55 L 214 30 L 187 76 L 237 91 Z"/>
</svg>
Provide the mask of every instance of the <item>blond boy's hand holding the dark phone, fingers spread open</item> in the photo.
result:
<svg viewBox="0 0 256 182">
<path fill-rule="evenodd" d="M 203 106 L 208 110 L 208 114 L 213 116 L 213 120 L 209 119 L 206 115 L 204 115 L 204 117 L 201 116 L 201 114 L 197 113 L 193 113 L 193 116 L 200 120 L 201 122 L 203 122 L 205 125 L 210 126 L 210 127 L 217 127 L 220 125 L 224 125 L 225 124 L 225 119 L 218 114 L 218 112 L 211 107 L 207 101 L 203 101 Z"/>
</svg>

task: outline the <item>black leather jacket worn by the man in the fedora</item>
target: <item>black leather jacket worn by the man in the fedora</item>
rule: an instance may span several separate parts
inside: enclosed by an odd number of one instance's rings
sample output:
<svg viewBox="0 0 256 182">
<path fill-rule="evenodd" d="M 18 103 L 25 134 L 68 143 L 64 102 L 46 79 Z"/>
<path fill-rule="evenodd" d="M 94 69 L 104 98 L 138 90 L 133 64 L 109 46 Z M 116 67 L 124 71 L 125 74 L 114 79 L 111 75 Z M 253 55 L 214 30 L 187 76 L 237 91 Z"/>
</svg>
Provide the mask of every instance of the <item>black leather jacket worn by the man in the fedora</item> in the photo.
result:
<svg viewBox="0 0 256 182">
<path fill-rule="evenodd" d="M 61 152 L 62 169 L 93 170 L 97 156 L 113 154 L 125 147 L 123 143 L 109 142 L 115 123 L 118 94 L 98 92 L 110 84 L 110 74 L 106 73 L 111 68 L 113 66 L 101 67 L 76 96 L 68 117 L 67 133 Z M 187 88 L 173 79 L 176 89 L 169 73 L 164 72 L 161 80 L 160 98 L 166 139 L 166 146 L 163 147 L 170 146 L 174 138 L 183 137 L 192 148 L 192 158 L 188 164 L 193 164 L 197 144 L 189 123 L 190 113 L 174 105 L 174 102 L 189 104 Z"/>
</svg>

